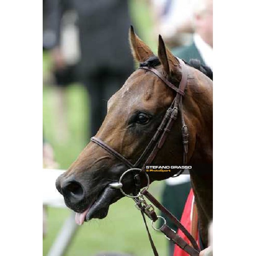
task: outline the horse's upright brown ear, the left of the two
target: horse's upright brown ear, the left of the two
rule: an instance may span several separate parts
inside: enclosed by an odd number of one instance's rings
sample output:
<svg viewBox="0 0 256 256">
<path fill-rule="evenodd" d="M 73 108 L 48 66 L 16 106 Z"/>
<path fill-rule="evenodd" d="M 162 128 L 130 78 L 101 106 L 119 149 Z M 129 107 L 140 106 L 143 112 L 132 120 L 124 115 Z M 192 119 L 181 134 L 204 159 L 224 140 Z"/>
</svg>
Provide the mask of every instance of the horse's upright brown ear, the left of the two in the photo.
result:
<svg viewBox="0 0 256 256">
<path fill-rule="evenodd" d="M 151 49 L 135 34 L 133 26 L 130 27 L 129 39 L 135 61 L 144 62 L 154 55 Z"/>
</svg>

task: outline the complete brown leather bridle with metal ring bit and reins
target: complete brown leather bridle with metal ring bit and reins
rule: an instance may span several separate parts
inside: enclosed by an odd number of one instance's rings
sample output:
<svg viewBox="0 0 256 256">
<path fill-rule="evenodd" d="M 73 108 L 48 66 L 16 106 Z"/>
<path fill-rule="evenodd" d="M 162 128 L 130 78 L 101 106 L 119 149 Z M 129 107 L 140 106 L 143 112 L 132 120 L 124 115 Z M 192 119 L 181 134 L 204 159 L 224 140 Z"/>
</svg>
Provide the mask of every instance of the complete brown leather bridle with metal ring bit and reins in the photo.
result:
<svg viewBox="0 0 256 256">
<path fill-rule="evenodd" d="M 172 84 L 170 81 L 168 81 L 160 72 L 158 72 L 156 69 L 153 67 L 139 67 L 139 69 L 144 69 L 148 70 L 152 73 L 154 73 L 158 78 L 160 78 L 168 87 L 170 87 L 172 90 L 175 90 L 177 93 L 175 96 L 175 99 L 173 100 L 171 106 L 168 108 L 166 111 L 165 116 L 162 119 L 162 122 L 160 123 L 159 127 L 157 128 L 157 131 L 155 132 L 154 136 L 151 138 L 150 142 L 144 149 L 143 153 L 140 155 L 139 159 L 136 161 L 136 163 L 131 163 L 128 159 L 126 159 L 124 156 L 119 154 L 117 151 L 115 151 L 113 148 L 111 148 L 109 145 L 104 143 L 102 140 L 96 137 L 92 137 L 90 140 L 97 145 L 101 146 L 104 148 L 106 151 L 108 151 L 110 154 L 121 160 L 125 165 L 127 165 L 129 168 L 127 171 L 125 171 L 122 176 L 119 179 L 119 182 L 114 182 L 109 184 L 110 187 L 114 189 L 120 189 L 120 192 L 130 198 L 133 198 L 135 201 L 135 207 L 141 211 L 141 214 L 143 216 L 143 221 L 145 223 L 146 230 L 148 232 L 148 238 L 151 243 L 152 250 L 154 252 L 155 256 L 158 256 L 156 247 L 154 245 L 154 242 L 151 238 L 151 235 L 148 230 L 147 223 L 145 221 L 145 215 L 148 216 L 148 218 L 151 219 L 151 225 L 154 230 L 161 231 L 167 239 L 172 240 L 175 244 L 177 244 L 181 249 L 186 251 L 186 253 L 189 253 L 191 256 L 198 256 L 200 249 L 198 247 L 198 244 L 196 243 L 195 239 L 192 237 L 192 235 L 186 230 L 186 228 L 180 223 L 180 221 L 177 220 L 177 218 L 172 215 L 171 212 L 169 212 L 165 207 L 163 207 L 162 204 L 160 204 L 154 197 L 151 195 L 147 189 L 150 183 L 149 177 L 147 173 L 145 172 L 145 165 L 150 165 L 154 158 L 156 157 L 158 151 L 163 147 L 171 129 L 172 126 L 177 119 L 178 112 L 180 111 L 181 115 L 181 135 L 182 135 L 182 143 L 183 143 L 183 165 L 187 165 L 187 155 L 188 155 L 188 143 L 189 143 L 189 132 L 187 125 L 185 123 L 183 111 L 182 111 L 182 96 L 185 96 L 185 89 L 186 89 L 186 84 L 187 84 L 187 77 L 188 77 L 188 70 L 186 67 L 186 64 L 178 58 L 178 61 L 180 62 L 180 65 L 182 67 L 182 77 L 180 80 L 179 87 L 177 88 L 174 84 Z M 153 149 L 152 149 L 153 148 Z M 151 153 L 149 151 L 151 150 Z M 143 161 L 143 159 L 145 159 Z M 140 166 L 141 169 L 140 169 Z M 134 183 L 135 183 L 135 192 L 133 195 L 127 195 L 125 192 L 122 190 L 122 179 L 125 176 L 126 173 L 128 172 L 134 172 L 137 171 L 138 173 L 134 175 Z M 184 169 L 181 169 L 176 175 L 172 177 L 177 177 L 179 176 Z M 140 191 L 140 175 L 144 174 L 147 178 L 147 186 L 145 189 Z M 144 196 L 151 202 L 151 204 L 147 204 L 145 201 Z M 156 212 L 154 211 L 154 207 L 157 207 L 165 213 L 166 216 L 185 234 L 187 239 L 189 239 L 190 243 L 192 244 L 189 245 L 184 239 L 182 239 L 180 236 L 177 235 L 177 233 L 172 230 L 168 225 L 166 225 L 166 220 L 162 216 L 158 216 Z M 157 229 L 154 227 L 154 222 L 157 221 L 159 218 L 161 218 L 164 223 L 163 225 Z"/>
</svg>

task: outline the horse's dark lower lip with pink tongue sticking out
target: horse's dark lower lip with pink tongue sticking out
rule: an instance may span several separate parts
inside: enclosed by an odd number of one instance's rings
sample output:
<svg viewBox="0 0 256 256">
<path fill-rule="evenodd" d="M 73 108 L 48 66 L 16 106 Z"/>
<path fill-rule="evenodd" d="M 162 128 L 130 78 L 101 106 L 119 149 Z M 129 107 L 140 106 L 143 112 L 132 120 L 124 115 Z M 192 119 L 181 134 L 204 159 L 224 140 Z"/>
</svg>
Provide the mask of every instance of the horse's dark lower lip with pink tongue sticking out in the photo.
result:
<svg viewBox="0 0 256 256">
<path fill-rule="evenodd" d="M 109 206 L 121 197 L 122 195 L 118 189 L 107 186 L 87 209 L 84 209 L 81 213 L 76 212 L 76 224 L 82 225 L 84 221 L 90 221 L 92 218 L 105 218 L 108 215 Z"/>
</svg>

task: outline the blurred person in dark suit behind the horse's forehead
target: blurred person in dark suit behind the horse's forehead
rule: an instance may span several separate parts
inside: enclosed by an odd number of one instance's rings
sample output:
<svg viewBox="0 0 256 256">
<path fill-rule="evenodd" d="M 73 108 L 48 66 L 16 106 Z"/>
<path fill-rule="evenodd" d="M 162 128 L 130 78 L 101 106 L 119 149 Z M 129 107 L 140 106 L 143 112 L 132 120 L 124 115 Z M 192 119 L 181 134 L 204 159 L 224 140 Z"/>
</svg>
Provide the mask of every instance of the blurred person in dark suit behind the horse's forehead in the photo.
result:
<svg viewBox="0 0 256 256">
<path fill-rule="evenodd" d="M 61 13 L 64 2 L 77 15 L 80 60 L 77 75 L 90 96 L 90 132 L 97 133 L 107 112 L 107 101 L 134 68 L 128 44 L 131 20 L 128 0 L 45 0 L 51 23 L 48 35 L 55 41 L 52 58 L 58 70 L 67 63 L 60 48 Z M 71 38 L 70 38 L 71 40 Z"/>
</svg>

